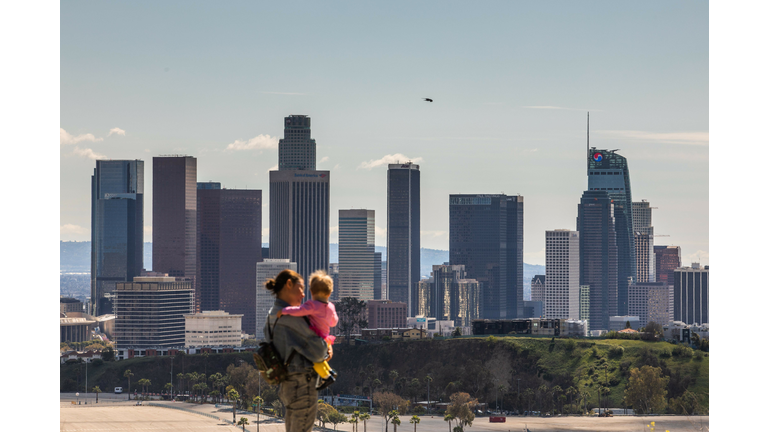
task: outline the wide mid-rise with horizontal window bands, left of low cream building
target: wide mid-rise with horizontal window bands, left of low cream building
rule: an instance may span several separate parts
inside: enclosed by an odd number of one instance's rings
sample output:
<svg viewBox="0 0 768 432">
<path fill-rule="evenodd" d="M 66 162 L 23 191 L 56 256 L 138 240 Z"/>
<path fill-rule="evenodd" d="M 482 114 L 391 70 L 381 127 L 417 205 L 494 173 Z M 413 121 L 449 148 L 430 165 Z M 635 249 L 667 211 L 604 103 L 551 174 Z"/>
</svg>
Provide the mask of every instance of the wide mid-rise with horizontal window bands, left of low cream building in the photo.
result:
<svg viewBox="0 0 768 432">
<path fill-rule="evenodd" d="M 184 346 L 184 315 L 195 312 L 191 281 L 137 276 L 132 282 L 118 282 L 115 293 L 118 349 Z"/>
</svg>

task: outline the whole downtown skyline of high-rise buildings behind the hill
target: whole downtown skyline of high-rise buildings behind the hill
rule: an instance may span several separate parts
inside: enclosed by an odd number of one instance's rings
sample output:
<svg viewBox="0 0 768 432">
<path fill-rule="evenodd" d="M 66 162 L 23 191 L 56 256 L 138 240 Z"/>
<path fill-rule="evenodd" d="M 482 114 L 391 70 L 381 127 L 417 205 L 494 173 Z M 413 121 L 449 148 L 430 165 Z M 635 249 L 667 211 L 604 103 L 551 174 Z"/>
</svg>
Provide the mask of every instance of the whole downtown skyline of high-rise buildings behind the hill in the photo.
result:
<svg viewBox="0 0 768 432">
<path fill-rule="evenodd" d="M 88 340 L 97 327 L 102 334 L 104 321 L 94 317 L 109 316 L 125 355 L 238 347 L 243 335 L 264 338 L 274 302 L 264 283 L 284 269 L 305 278 L 325 270 L 333 301 L 366 302 L 368 328 L 355 333 L 369 339 L 383 338 L 381 329 L 404 338 L 415 336 L 398 329 L 588 335 L 622 320 L 622 329 L 627 321 L 635 329 L 709 320 L 709 268 L 681 267 L 679 247 L 655 244 L 653 207 L 632 200 L 629 165 L 617 150 L 587 147 L 575 229 L 544 233 L 546 270 L 531 281 L 530 300 L 520 195 L 450 194 L 449 261 L 419 274 L 422 167 L 407 160 L 387 167 L 386 261 L 375 248 L 375 212 L 353 208 L 339 210 L 339 258 L 331 263 L 331 173 L 317 170 L 310 124 L 306 115 L 284 118 L 269 174 L 269 247 L 261 244 L 261 190 L 198 182 L 191 156 L 153 157 L 152 272 L 142 249 L 144 162 L 96 161 L 91 297 L 85 305 L 62 300 L 62 341 Z"/>
</svg>

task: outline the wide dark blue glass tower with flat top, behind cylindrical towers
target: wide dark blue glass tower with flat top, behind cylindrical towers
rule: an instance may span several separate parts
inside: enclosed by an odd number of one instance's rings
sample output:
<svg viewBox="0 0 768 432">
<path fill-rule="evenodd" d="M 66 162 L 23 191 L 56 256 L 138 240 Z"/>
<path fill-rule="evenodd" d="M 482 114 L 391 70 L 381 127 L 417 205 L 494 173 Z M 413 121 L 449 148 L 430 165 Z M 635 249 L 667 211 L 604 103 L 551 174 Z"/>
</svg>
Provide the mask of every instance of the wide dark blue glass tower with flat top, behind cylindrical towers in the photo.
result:
<svg viewBox="0 0 768 432">
<path fill-rule="evenodd" d="M 523 197 L 450 195 L 449 256 L 482 284 L 483 318 L 523 315 Z"/>
</svg>

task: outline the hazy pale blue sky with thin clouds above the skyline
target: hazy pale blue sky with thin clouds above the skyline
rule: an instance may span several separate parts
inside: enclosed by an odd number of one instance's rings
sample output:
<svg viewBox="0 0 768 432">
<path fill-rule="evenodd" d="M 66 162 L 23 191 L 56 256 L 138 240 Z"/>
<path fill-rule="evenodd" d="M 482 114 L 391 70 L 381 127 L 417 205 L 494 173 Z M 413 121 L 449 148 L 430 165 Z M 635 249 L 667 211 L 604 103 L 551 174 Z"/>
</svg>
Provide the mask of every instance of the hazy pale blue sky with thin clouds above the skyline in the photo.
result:
<svg viewBox="0 0 768 432">
<path fill-rule="evenodd" d="M 312 118 L 338 210 L 376 210 L 386 163 L 421 165 L 422 247 L 448 195 L 525 198 L 525 262 L 576 228 L 590 144 L 621 149 L 656 244 L 709 263 L 709 4 L 61 3 L 61 239 L 90 240 L 95 159 L 197 157 L 198 181 L 264 191 L 283 117 Z M 422 101 L 430 97 L 433 103 Z M 398 156 L 399 155 L 399 156 Z"/>
</svg>

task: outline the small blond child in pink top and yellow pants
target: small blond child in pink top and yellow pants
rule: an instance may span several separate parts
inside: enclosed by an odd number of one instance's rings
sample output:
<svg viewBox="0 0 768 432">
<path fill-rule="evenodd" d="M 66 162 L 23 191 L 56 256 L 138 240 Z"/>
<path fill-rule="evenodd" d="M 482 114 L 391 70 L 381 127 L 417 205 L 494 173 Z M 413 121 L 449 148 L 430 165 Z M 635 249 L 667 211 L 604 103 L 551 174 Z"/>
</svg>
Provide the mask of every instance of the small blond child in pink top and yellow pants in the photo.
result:
<svg viewBox="0 0 768 432">
<path fill-rule="evenodd" d="M 301 306 L 284 307 L 277 312 L 278 318 L 282 315 L 307 316 L 309 317 L 310 327 L 318 336 L 323 338 L 329 345 L 336 340 L 331 336 L 331 327 L 339 322 L 339 316 L 336 315 L 336 307 L 328 301 L 333 292 L 333 279 L 323 270 L 318 270 L 309 277 L 309 292 L 312 293 L 312 300 Z M 336 371 L 331 369 L 328 362 L 323 360 L 315 363 L 315 372 L 317 372 L 317 390 L 322 390 L 336 381 Z"/>
</svg>

